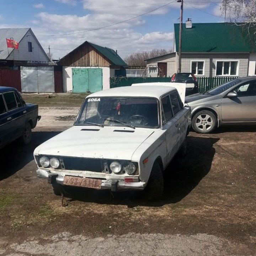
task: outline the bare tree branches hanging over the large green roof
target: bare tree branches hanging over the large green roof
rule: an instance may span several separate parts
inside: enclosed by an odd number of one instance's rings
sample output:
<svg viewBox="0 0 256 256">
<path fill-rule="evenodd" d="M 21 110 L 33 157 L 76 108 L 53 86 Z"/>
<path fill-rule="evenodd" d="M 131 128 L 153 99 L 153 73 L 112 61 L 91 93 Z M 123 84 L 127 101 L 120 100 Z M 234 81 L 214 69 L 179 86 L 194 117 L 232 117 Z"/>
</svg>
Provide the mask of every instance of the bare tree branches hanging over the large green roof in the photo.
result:
<svg viewBox="0 0 256 256">
<path fill-rule="evenodd" d="M 242 27 L 242 31 L 255 45 L 256 0 L 222 0 L 220 10 L 229 22 Z"/>
</svg>

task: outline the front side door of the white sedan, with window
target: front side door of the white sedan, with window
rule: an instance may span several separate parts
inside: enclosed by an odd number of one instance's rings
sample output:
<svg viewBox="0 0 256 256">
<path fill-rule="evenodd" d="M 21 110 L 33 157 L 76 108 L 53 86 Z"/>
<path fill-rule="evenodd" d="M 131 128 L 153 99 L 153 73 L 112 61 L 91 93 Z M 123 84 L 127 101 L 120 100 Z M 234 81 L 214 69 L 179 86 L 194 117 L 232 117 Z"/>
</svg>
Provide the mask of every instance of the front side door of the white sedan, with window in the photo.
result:
<svg viewBox="0 0 256 256">
<path fill-rule="evenodd" d="M 178 150 L 178 126 L 177 119 L 172 113 L 169 94 L 161 98 L 162 129 L 165 131 L 167 162 L 168 164 Z"/>
</svg>

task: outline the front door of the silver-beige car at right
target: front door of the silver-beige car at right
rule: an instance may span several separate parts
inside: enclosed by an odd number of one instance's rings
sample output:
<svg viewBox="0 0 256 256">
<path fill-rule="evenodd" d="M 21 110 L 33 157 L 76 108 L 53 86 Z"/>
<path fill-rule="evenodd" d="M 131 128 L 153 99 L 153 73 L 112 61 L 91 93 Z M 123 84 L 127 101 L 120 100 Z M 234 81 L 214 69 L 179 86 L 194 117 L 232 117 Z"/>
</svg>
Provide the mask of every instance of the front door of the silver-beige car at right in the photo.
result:
<svg viewBox="0 0 256 256">
<path fill-rule="evenodd" d="M 247 81 L 236 86 L 237 97 L 223 97 L 223 122 L 256 122 L 256 80 Z"/>
</svg>

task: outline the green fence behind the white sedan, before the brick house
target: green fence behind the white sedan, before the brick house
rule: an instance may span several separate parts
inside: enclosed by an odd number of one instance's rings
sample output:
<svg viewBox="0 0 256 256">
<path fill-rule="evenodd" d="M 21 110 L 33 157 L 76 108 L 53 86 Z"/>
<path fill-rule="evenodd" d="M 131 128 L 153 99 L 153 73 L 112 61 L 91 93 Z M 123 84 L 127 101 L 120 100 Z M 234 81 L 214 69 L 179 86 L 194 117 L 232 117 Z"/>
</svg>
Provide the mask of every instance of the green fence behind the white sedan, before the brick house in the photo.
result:
<svg viewBox="0 0 256 256">
<path fill-rule="evenodd" d="M 238 78 L 237 76 L 226 76 L 226 77 L 197 77 L 199 92 L 204 92 L 226 81 Z M 110 88 L 121 87 L 121 86 L 131 86 L 136 83 L 144 82 L 170 82 L 171 78 L 134 78 L 134 77 L 111 77 L 110 78 Z"/>
</svg>

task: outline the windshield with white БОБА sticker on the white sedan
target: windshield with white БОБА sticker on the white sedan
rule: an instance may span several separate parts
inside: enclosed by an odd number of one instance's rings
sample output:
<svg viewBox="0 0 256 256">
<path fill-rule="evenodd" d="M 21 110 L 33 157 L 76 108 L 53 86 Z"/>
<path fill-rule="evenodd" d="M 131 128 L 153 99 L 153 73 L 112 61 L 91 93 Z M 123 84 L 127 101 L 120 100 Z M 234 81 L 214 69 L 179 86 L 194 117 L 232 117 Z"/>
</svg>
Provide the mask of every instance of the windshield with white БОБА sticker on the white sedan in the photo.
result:
<svg viewBox="0 0 256 256">
<path fill-rule="evenodd" d="M 159 127 L 156 98 L 87 98 L 75 125 Z"/>
</svg>

